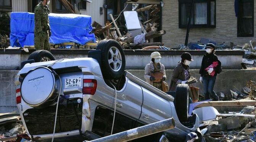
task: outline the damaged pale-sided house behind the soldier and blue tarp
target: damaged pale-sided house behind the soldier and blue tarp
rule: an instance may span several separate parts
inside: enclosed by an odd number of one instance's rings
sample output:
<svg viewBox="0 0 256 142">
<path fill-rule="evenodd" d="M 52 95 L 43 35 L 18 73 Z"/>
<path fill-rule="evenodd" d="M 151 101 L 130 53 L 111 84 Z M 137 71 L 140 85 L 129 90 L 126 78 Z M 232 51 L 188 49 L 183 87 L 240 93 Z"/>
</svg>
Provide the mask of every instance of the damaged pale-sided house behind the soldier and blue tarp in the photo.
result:
<svg viewBox="0 0 256 142">
<path fill-rule="evenodd" d="M 1 0 L 0 11 L 31 12 L 41 0 Z M 104 25 L 104 0 L 51 0 L 51 13 L 75 13 L 89 15 L 92 21 Z"/>
</svg>

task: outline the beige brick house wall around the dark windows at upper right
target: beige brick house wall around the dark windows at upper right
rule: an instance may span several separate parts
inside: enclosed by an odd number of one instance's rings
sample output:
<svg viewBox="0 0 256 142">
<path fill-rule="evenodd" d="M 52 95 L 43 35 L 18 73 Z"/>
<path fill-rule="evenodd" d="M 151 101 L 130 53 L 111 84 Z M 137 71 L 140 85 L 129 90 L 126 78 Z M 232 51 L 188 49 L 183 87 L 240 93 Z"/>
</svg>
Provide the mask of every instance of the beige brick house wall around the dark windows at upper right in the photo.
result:
<svg viewBox="0 0 256 142">
<path fill-rule="evenodd" d="M 177 47 L 185 43 L 186 28 L 179 28 L 178 0 L 162 0 L 162 43 L 166 47 Z M 256 0 L 254 0 L 254 37 L 237 37 L 237 17 L 235 16 L 234 0 L 216 0 L 216 28 L 191 28 L 188 42 L 197 42 L 201 37 L 217 41 L 217 43 L 233 42 L 238 45 L 256 40 Z"/>
</svg>

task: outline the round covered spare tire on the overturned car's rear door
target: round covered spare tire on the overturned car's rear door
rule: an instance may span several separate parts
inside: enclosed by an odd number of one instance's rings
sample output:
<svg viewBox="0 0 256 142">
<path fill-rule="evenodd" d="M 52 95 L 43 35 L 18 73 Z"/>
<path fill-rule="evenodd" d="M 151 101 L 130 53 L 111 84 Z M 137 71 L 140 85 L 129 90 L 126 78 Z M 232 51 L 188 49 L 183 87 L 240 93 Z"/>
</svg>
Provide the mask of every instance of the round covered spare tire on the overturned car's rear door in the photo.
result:
<svg viewBox="0 0 256 142">
<path fill-rule="evenodd" d="M 29 71 L 21 83 L 21 97 L 26 104 L 35 108 L 56 103 L 59 91 L 60 79 L 44 66 Z"/>
</svg>

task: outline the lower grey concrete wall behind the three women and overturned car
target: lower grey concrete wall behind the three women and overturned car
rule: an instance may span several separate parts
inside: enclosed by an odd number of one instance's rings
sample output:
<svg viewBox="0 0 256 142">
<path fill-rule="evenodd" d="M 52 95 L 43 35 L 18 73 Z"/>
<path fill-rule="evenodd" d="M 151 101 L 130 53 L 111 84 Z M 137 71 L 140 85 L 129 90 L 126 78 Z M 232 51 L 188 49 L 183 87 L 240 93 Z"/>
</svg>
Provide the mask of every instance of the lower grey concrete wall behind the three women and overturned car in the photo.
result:
<svg viewBox="0 0 256 142">
<path fill-rule="evenodd" d="M 144 80 L 144 70 L 128 70 L 134 76 Z M 199 78 L 199 70 L 190 70 L 191 76 Z M 0 71 L 0 113 L 12 112 L 16 110 L 16 88 L 14 84 L 14 77 L 18 71 Z M 166 70 L 168 84 L 172 77 L 173 70 Z M 230 89 L 237 91 L 245 87 L 249 80 L 256 80 L 256 70 L 223 70 L 217 76 L 214 90 L 216 93 L 230 93 Z M 200 87 L 200 94 L 203 94 L 203 86 L 201 83 L 194 84 Z M 235 86 L 235 87 L 233 87 Z"/>
</svg>

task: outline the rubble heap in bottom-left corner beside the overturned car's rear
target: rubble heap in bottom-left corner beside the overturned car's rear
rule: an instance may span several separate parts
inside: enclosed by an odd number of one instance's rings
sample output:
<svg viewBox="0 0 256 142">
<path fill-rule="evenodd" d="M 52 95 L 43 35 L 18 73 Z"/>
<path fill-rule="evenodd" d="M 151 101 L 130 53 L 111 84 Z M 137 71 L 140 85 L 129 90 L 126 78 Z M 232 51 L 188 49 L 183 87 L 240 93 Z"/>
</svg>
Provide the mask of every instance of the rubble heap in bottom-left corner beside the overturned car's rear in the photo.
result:
<svg viewBox="0 0 256 142">
<path fill-rule="evenodd" d="M 15 112 L 0 114 L 0 142 L 13 140 L 30 140 L 21 122 L 21 117 Z"/>
</svg>

